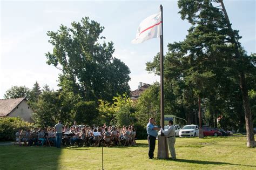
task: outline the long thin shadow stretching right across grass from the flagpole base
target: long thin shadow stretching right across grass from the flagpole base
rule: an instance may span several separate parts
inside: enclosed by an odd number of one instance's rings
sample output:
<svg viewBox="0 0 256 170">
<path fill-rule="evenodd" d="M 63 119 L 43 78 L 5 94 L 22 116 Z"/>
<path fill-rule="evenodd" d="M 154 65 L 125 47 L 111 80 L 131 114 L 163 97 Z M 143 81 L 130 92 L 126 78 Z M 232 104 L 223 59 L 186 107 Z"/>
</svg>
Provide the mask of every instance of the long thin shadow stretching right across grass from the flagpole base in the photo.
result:
<svg viewBox="0 0 256 170">
<path fill-rule="evenodd" d="M 212 165 L 239 165 L 239 166 L 256 167 L 256 166 L 253 166 L 253 165 L 231 164 L 231 163 L 228 163 L 228 162 L 200 161 L 200 160 L 190 160 L 190 159 L 176 159 L 176 160 L 166 159 L 166 160 L 176 161 L 176 162 L 187 162 L 187 163 L 191 163 L 191 164 L 201 164 L 201 165 L 212 164 Z"/>
</svg>

